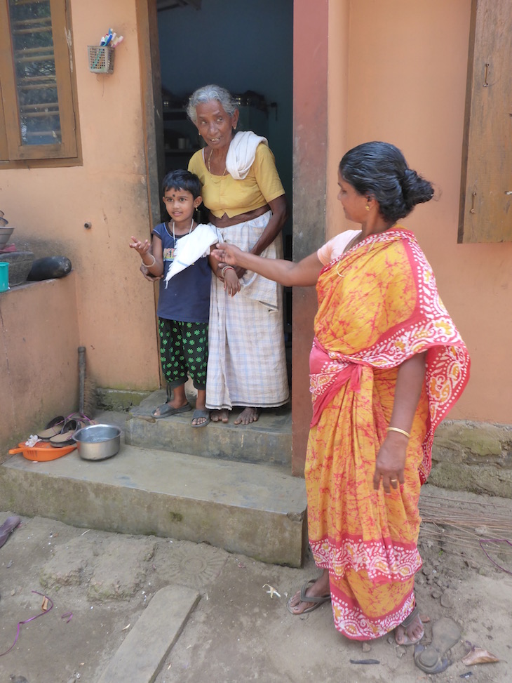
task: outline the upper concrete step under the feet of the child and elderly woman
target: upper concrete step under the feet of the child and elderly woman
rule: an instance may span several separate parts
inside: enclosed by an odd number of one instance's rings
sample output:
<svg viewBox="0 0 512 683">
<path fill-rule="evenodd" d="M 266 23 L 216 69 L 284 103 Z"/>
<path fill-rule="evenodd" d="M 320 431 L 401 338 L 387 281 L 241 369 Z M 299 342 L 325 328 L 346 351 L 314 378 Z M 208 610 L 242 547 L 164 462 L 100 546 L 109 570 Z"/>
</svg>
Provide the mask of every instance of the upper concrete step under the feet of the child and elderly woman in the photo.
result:
<svg viewBox="0 0 512 683">
<path fill-rule="evenodd" d="M 156 420 L 151 411 L 166 402 L 165 390 L 156 391 L 128 413 L 126 443 L 141 448 L 191 453 L 203 458 L 222 458 L 243 463 L 276 465 L 291 471 L 292 411 L 290 404 L 266 409 L 251 425 L 210 423 L 192 429 L 192 413 Z M 238 413 L 239 410 L 234 411 Z"/>
</svg>

